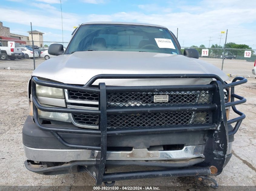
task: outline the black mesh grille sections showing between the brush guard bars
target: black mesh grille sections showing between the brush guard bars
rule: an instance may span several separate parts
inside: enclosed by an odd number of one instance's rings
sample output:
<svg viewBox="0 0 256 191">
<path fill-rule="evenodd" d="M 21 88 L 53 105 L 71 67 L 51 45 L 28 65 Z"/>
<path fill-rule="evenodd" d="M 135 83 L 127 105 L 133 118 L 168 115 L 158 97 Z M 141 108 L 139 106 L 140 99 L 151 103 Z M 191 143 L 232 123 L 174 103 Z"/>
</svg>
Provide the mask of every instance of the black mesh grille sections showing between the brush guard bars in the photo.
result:
<svg viewBox="0 0 256 191">
<path fill-rule="evenodd" d="M 212 91 L 139 91 L 107 92 L 107 108 L 160 107 L 212 104 Z M 168 95 L 168 102 L 154 102 L 154 95 Z M 98 101 L 98 94 L 68 90 L 69 99 Z M 76 96 L 76 97 L 75 97 Z M 72 114 L 79 125 L 98 126 L 98 115 Z M 108 129 L 133 129 L 212 124 L 211 111 L 176 111 L 153 113 L 122 113 L 107 115 Z"/>
</svg>

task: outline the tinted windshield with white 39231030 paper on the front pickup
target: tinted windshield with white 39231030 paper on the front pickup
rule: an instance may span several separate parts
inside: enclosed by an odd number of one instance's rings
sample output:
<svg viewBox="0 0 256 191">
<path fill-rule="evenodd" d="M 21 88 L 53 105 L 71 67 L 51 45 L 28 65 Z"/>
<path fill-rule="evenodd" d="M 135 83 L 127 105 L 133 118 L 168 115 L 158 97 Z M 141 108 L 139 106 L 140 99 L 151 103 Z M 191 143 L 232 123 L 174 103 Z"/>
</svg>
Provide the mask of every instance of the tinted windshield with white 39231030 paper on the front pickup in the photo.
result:
<svg viewBox="0 0 256 191">
<path fill-rule="evenodd" d="M 85 24 L 80 26 L 65 54 L 77 51 L 180 54 L 168 29 L 124 24 Z"/>
</svg>

